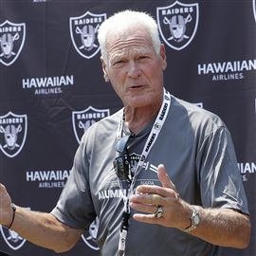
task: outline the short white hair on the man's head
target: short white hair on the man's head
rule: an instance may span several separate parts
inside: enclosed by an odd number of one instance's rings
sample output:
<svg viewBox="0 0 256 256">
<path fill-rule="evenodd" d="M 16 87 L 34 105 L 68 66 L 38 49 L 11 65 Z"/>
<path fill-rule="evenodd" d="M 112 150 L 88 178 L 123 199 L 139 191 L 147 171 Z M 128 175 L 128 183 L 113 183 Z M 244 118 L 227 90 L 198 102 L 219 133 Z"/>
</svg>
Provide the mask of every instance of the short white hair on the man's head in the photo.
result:
<svg viewBox="0 0 256 256">
<path fill-rule="evenodd" d="M 128 28 L 143 27 L 152 39 L 155 52 L 160 51 L 160 39 L 155 19 L 146 12 L 136 10 L 121 10 L 106 19 L 98 30 L 98 40 L 101 46 L 101 56 L 106 60 L 106 40 L 110 31 L 124 31 Z"/>
</svg>

